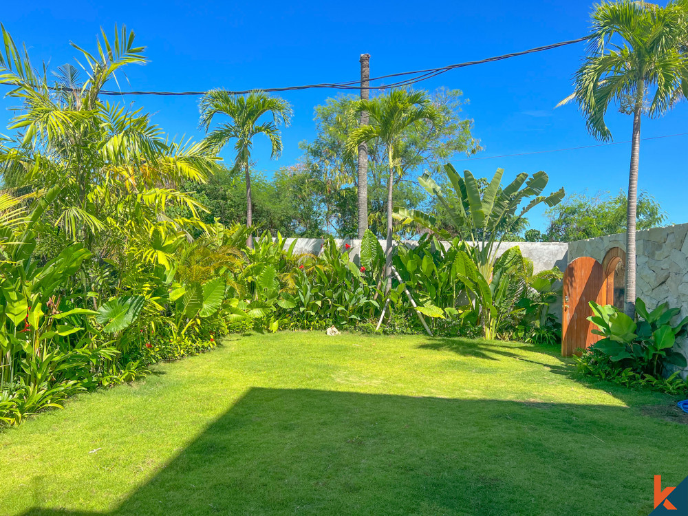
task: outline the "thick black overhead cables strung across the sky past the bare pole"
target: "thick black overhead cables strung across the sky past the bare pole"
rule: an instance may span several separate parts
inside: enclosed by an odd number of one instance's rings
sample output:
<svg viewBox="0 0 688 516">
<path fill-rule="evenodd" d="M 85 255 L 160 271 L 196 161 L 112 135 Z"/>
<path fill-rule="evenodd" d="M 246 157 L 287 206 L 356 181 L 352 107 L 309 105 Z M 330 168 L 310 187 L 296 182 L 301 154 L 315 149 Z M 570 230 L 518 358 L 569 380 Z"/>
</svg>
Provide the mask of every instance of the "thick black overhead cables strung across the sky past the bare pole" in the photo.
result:
<svg viewBox="0 0 688 516">
<path fill-rule="evenodd" d="M 447 65 L 438 68 L 427 68 L 422 70 L 414 70 L 413 72 L 397 72 L 396 74 L 381 75 L 378 77 L 370 78 L 370 81 L 383 80 L 393 77 L 402 76 L 412 76 L 410 78 L 405 78 L 403 80 L 398 80 L 394 83 L 386 85 L 371 86 L 372 89 L 391 89 L 398 87 L 410 86 L 416 83 L 420 83 L 422 80 L 428 80 L 429 78 L 436 77 L 449 70 L 464 68 L 473 65 L 482 65 L 484 63 L 493 63 L 495 61 L 504 61 L 504 59 L 509 59 L 518 56 L 525 56 L 526 54 L 535 54 L 535 52 L 544 52 L 545 50 L 552 50 L 558 47 L 563 47 L 566 45 L 573 45 L 574 43 L 581 43 L 581 41 L 586 41 L 589 36 L 584 36 L 578 39 L 570 39 L 568 41 L 560 41 L 559 43 L 552 43 L 550 45 L 544 45 L 541 47 L 531 48 L 529 50 L 522 50 L 520 52 L 512 52 L 510 54 L 502 54 L 500 56 L 493 56 L 484 59 L 479 59 L 478 61 L 466 61 L 465 63 L 456 63 L 454 65 Z M 11 85 L 10 85 L 11 86 Z M 308 84 L 303 86 L 286 86 L 286 87 L 271 87 L 271 88 L 252 88 L 252 89 L 241 89 L 241 90 L 225 90 L 228 94 L 232 95 L 242 95 L 247 94 L 255 90 L 260 90 L 262 92 L 294 92 L 301 89 L 361 89 L 360 80 L 349 80 L 341 83 L 319 83 L 319 84 Z M 74 91 L 70 88 L 63 87 L 50 87 L 53 90 L 61 91 Z M 100 95 L 114 95 L 114 96 L 125 96 L 125 95 L 158 95 L 158 96 L 201 96 L 208 92 L 155 92 L 155 91 L 135 91 L 135 92 L 116 92 L 114 90 L 101 89 L 98 92 Z"/>
</svg>

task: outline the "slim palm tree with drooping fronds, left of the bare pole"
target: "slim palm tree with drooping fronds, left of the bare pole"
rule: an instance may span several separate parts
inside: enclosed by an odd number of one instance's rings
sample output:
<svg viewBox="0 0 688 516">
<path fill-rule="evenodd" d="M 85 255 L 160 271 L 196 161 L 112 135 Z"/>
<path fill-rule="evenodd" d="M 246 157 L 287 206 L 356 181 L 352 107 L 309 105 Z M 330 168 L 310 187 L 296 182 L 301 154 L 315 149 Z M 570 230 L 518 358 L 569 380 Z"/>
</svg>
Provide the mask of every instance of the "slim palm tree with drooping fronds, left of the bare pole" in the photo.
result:
<svg viewBox="0 0 688 516">
<path fill-rule="evenodd" d="M 272 145 L 271 158 L 273 160 L 279 158 L 282 152 L 279 126 L 289 125 L 292 107 L 286 100 L 271 96 L 266 92 L 251 92 L 245 96 L 237 96 L 222 89 L 214 89 L 201 100 L 201 127 L 208 131 L 213 117 L 217 114 L 228 116 L 231 122 L 225 122 L 213 129 L 206 137 L 206 141 L 219 151 L 229 140 L 236 140 L 234 149 L 237 151 L 237 157 L 234 166 L 236 170 L 243 169 L 246 173 L 246 227 L 250 228 L 253 224 L 253 210 L 249 162 L 253 137 L 257 134 L 267 136 Z M 272 120 L 259 122 L 259 119 L 266 114 L 269 114 Z M 247 245 L 252 246 L 250 233 Z"/>
</svg>

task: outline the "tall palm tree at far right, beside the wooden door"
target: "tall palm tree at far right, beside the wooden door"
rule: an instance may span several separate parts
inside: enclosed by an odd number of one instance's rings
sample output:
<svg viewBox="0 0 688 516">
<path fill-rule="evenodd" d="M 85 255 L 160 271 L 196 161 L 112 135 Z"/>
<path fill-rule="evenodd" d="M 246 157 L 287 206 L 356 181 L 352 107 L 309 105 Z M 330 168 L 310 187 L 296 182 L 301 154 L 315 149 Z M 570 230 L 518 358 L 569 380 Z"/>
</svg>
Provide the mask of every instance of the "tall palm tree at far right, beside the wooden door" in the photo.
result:
<svg viewBox="0 0 688 516">
<path fill-rule="evenodd" d="M 672 1 L 665 8 L 621 0 L 604 2 L 592 12 L 590 46 L 574 76 L 574 94 L 559 103 L 577 100 L 588 131 L 610 140 L 605 114 L 612 103 L 633 114 L 631 162 L 628 175 L 625 312 L 634 316 L 636 299 L 636 203 L 641 118 L 662 116 L 681 94 L 688 94 L 688 2 Z M 612 39 L 614 41 L 612 41 Z M 646 101 L 647 99 L 647 101 Z"/>
</svg>

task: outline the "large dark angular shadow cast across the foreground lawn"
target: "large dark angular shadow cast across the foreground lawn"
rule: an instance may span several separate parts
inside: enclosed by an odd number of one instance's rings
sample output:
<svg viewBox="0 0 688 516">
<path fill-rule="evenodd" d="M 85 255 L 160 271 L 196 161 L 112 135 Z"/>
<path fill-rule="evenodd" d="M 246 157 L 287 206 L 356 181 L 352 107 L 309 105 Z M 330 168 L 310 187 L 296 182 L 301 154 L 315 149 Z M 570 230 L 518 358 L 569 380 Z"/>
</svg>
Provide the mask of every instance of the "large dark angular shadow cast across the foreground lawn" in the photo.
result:
<svg viewBox="0 0 688 516">
<path fill-rule="evenodd" d="M 114 510 L 25 516 L 647 514 L 652 475 L 685 475 L 664 444 L 683 431 L 621 407 L 252 388 Z"/>
</svg>

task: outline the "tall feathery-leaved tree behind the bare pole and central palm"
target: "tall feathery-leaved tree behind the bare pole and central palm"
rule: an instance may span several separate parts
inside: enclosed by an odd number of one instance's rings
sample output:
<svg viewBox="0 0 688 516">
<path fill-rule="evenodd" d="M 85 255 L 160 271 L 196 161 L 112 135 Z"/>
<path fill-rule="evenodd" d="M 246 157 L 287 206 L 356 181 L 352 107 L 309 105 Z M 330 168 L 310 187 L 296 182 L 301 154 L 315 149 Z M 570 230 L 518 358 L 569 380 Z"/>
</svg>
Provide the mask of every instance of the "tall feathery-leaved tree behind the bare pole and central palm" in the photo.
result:
<svg viewBox="0 0 688 516">
<path fill-rule="evenodd" d="M 404 145 L 398 149 L 398 175 L 394 178 L 394 206 L 416 208 L 426 199 L 415 182 L 424 169 L 434 171 L 458 153 L 473 154 L 481 150 L 473 138 L 473 120 L 462 116 L 462 92 L 458 89 L 438 89 L 429 94 L 439 118 L 431 127 L 424 121 L 404 131 Z M 358 127 L 357 97 L 328 98 L 316 106 L 316 138 L 301 142 L 305 166 L 319 171 L 327 185 L 325 208 L 330 231 L 339 237 L 356 237 L 358 175 L 356 161 L 345 153 L 345 142 Z M 368 203 L 369 228 L 385 237 L 387 215 L 386 179 L 389 174 L 385 146 L 379 141 L 368 144 Z M 402 236 L 402 235 L 396 235 Z"/>
</svg>

